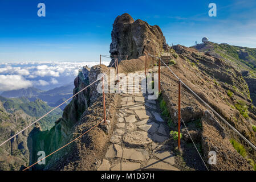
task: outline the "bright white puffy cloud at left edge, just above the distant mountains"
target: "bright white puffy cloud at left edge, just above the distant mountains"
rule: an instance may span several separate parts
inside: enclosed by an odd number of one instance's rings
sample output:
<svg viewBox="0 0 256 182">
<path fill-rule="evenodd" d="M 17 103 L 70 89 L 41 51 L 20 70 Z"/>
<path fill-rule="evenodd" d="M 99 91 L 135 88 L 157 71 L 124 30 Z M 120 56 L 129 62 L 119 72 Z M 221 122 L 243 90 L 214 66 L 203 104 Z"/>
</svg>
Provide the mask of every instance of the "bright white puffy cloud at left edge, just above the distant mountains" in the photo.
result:
<svg viewBox="0 0 256 182">
<path fill-rule="evenodd" d="M 0 91 L 17 90 L 32 86 L 32 82 L 21 75 L 0 75 Z"/>
</svg>

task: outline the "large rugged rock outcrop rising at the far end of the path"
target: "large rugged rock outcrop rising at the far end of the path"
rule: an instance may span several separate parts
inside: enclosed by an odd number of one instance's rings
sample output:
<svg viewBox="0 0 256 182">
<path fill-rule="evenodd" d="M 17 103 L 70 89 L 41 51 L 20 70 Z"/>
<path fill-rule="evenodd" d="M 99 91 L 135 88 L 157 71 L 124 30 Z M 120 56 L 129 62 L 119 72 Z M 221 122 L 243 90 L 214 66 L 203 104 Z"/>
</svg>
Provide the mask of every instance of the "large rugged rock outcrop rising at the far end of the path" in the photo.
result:
<svg viewBox="0 0 256 182">
<path fill-rule="evenodd" d="M 112 43 L 110 53 L 117 55 L 119 60 L 137 59 L 145 53 L 157 55 L 166 47 L 165 37 L 159 26 L 150 26 L 141 19 L 133 20 L 132 16 L 125 13 L 117 16 L 113 23 L 111 33 Z M 113 60 L 111 61 L 111 64 Z"/>
</svg>

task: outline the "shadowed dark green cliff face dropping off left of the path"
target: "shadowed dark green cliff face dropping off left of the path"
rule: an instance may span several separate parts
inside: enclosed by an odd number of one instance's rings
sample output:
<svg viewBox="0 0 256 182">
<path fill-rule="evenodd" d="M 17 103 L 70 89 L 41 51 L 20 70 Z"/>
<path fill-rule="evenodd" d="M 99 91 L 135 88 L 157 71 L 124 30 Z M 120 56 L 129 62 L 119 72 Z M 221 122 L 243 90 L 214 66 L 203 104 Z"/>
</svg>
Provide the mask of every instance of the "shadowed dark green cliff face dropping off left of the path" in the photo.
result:
<svg viewBox="0 0 256 182">
<path fill-rule="evenodd" d="M 107 71 L 108 68 L 104 65 L 97 65 L 91 69 L 84 67 L 79 71 L 78 77 L 75 78 L 74 94 L 78 93 L 91 82 L 97 80 L 97 75 Z M 95 82 L 93 86 L 90 86 L 90 88 L 83 90 L 83 92 L 80 92 L 77 96 L 75 96 L 70 104 L 64 108 L 62 118 L 56 121 L 55 126 L 52 127 L 50 131 L 41 131 L 39 127 L 35 127 L 35 129 L 31 131 L 30 141 L 32 143 L 30 164 L 37 161 L 38 156 L 36 154 L 38 151 L 44 151 L 46 152 L 46 155 L 50 154 L 59 147 L 62 147 L 64 144 L 70 142 L 70 140 L 74 139 L 74 137 L 77 137 L 77 133 L 79 132 L 74 130 L 77 130 L 77 127 L 80 127 L 82 124 L 86 125 L 86 122 L 88 121 L 86 119 L 82 120 L 82 118 L 85 117 L 85 113 L 90 110 L 88 108 L 95 104 L 97 100 L 100 100 L 99 97 L 101 94 L 96 92 L 96 88 L 99 83 L 99 81 Z M 47 158 L 46 166 L 36 165 L 34 169 L 57 169 L 60 167 L 60 164 L 64 165 L 65 161 L 63 161 L 63 158 L 68 157 L 70 154 L 73 154 L 78 150 L 77 147 L 72 148 L 71 146 L 63 148 L 61 152 Z M 73 157 L 75 158 L 75 156 Z M 56 161 L 58 160 L 60 160 L 59 165 L 56 164 Z"/>
</svg>

